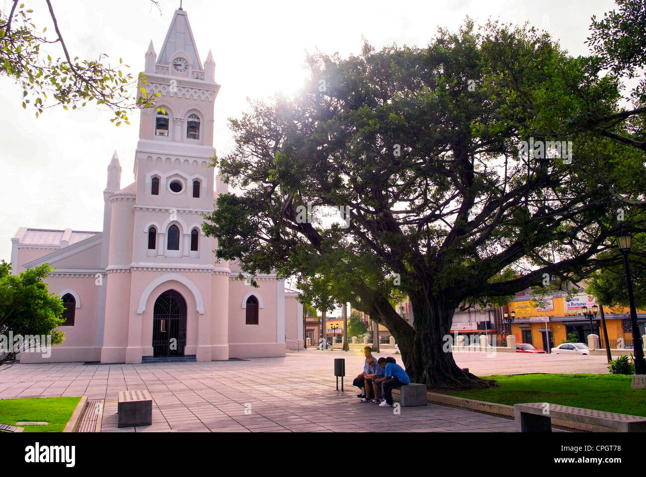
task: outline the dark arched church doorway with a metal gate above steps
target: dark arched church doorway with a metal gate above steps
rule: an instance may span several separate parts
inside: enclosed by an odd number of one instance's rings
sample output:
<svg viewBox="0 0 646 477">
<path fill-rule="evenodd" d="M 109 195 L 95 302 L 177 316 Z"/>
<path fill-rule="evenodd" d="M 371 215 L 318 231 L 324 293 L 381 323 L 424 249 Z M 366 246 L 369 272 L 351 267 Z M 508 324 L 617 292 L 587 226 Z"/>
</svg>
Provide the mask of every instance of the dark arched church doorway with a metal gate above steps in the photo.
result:
<svg viewBox="0 0 646 477">
<path fill-rule="evenodd" d="M 186 346 L 186 301 L 175 290 L 161 293 L 152 312 L 152 355 L 183 356 Z"/>
</svg>

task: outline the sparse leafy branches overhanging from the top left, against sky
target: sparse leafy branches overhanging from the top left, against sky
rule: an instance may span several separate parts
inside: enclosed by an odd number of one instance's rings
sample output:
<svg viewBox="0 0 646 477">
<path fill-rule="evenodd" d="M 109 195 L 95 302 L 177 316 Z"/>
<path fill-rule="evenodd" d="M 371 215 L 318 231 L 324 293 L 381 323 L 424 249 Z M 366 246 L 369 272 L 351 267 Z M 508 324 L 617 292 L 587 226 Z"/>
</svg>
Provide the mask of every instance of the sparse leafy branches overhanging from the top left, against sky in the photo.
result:
<svg viewBox="0 0 646 477">
<path fill-rule="evenodd" d="M 127 112 L 130 109 L 152 107 L 156 96 L 150 96 L 143 87 L 146 78 L 140 74 L 134 78 L 123 70 L 123 59 L 112 68 L 105 64 L 108 56 L 99 55 L 96 60 L 72 59 L 58 28 L 56 16 L 49 0 L 49 14 L 54 23 L 56 36 L 45 36 L 47 27 L 37 30 L 24 4 L 12 2 L 10 12 L 0 11 L 0 76 L 12 78 L 23 90 L 23 108 L 36 109 L 36 117 L 45 107 L 59 105 L 63 109 L 78 109 L 89 102 L 103 105 L 114 112 L 110 121 L 130 124 Z M 63 58 L 52 58 L 41 52 L 45 43 L 58 43 Z M 136 90 L 136 96 L 131 90 Z"/>
</svg>

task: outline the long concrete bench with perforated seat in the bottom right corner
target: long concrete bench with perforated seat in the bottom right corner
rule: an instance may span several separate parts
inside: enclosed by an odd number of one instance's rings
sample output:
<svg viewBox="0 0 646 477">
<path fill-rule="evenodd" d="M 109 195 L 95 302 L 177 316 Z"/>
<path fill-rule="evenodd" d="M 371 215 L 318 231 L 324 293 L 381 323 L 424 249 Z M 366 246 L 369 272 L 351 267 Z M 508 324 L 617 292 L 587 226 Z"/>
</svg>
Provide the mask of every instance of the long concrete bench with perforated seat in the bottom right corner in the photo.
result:
<svg viewBox="0 0 646 477">
<path fill-rule="evenodd" d="M 552 418 L 604 426 L 618 432 L 645 432 L 646 418 L 549 403 L 514 404 L 516 432 L 552 432 Z"/>
</svg>

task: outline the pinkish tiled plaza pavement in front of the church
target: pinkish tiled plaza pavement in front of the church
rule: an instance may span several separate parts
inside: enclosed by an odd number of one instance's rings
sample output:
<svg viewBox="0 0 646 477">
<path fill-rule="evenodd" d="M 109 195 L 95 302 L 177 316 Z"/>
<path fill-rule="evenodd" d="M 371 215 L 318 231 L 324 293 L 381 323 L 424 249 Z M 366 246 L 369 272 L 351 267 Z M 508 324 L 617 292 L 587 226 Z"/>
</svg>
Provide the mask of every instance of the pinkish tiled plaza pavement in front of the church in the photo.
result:
<svg viewBox="0 0 646 477">
<path fill-rule="evenodd" d="M 375 354 L 393 355 L 392 350 Z M 393 355 L 401 363 L 400 355 Z M 345 392 L 336 390 L 333 360 L 346 359 Z M 428 405 L 393 408 L 360 403 L 352 379 L 360 352 L 289 352 L 286 357 L 201 363 L 13 365 L 0 371 L 0 399 L 87 396 L 105 399 L 101 432 L 509 432 L 510 419 Z M 605 356 L 455 354 L 479 376 L 534 372 L 606 372 Z M 152 425 L 117 427 L 117 394 L 147 389 Z"/>
</svg>

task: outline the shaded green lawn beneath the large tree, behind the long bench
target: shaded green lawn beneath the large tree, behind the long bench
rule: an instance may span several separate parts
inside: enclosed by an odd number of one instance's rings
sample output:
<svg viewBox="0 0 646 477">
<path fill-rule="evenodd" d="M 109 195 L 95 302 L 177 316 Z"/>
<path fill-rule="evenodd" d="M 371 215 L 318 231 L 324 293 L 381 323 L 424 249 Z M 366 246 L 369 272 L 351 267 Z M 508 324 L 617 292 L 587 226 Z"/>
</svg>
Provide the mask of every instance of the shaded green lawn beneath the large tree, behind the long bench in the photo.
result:
<svg viewBox="0 0 646 477">
<path fill-rule="evenodd" d="M 488 376 L 499 388 L 437 391 L 460 398 L 514 405 L 551 403 L 564 406 L 646 416 L 646 390 L 630 389 L 630 376 L 621 374 L 517 374 Z"/>
</svg>

